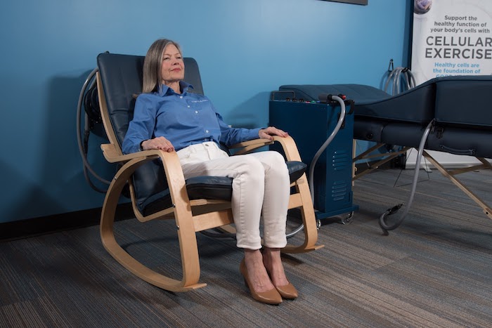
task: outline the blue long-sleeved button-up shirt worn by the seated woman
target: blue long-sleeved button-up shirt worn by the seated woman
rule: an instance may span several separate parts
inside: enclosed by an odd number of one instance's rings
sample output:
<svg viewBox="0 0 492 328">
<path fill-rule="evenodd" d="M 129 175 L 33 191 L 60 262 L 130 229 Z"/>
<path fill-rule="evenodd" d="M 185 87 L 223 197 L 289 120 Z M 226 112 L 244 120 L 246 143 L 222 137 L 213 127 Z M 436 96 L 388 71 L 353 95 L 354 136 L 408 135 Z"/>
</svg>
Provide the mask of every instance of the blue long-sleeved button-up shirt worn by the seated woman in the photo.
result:
<svg viewBox="0 0 492 328">
<path fill-rule="evenodd" d="M 138 152 L 143 140 L 163 136 L 174 149 L 180 150 L 195 143 L 215 141 L 233 145 L 259 138 L 259 129 L 231 128 L 206 96 L 188 92 L 193 88 L 181 82 L 183 93 L 162 85 L 153 93 L 136 98 L 134 119 L 128 126 L 122 151 Z"/>
</svg>

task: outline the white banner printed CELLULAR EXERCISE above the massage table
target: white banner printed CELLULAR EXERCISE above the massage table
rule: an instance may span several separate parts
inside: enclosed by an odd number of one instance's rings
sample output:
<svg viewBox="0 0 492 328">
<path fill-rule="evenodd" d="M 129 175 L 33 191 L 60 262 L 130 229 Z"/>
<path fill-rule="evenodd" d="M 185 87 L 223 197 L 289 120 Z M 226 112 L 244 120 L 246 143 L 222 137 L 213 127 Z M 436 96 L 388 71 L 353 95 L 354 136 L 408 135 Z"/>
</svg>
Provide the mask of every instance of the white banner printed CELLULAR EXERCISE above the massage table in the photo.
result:
<svg viewBox="0 0 492 328">
<path fill-rule="evenodd" d="M 492 0 L 414 0 L 415 83 L 492 74 Z"/>
</svg>

